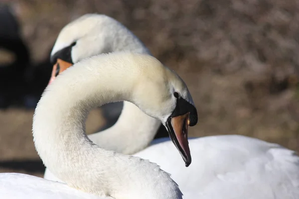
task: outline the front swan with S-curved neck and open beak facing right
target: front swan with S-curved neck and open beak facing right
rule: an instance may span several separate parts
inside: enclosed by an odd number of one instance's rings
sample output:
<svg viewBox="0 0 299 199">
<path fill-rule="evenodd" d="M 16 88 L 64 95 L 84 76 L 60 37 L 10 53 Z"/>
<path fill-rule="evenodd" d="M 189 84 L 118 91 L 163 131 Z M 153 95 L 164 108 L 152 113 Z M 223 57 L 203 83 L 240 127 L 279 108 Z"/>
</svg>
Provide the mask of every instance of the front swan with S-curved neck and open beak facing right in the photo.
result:
<svg viewBox="0 0 299 199">
<path fill-rule="evenodd" d="M 131 101 L 159 119 L 186 166 L 191 163 L 187 130 L 197 123 L 197 111 L 183 80 L 149 55 L 98 55 L 74 64 L 47 86 L 33 116 L 36 151 L 68 187 L 28 175 L 1 174 L 0 196 L 48 199 L 79 193 L 82 198 L 181 199 L 177 184 L 157 164 L 100 148 L 86 136 L 88 111 L 119 100 Z"/>
</svg>

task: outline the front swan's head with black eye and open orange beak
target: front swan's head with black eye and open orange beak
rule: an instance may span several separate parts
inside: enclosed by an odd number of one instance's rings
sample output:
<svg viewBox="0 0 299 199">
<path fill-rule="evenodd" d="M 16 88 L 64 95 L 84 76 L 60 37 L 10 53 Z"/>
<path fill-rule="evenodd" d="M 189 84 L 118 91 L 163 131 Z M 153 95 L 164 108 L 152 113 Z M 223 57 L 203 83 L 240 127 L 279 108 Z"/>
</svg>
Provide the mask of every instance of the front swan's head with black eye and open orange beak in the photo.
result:
<svg viewBox="0 0 299 199">
<path fill-rule="evenodd" d="M 197 110 L 184 81 L 157 59 L 142 55 L 145 60 L 137 64 L 141 75 L 134 88 L 133 100 L 148 115 L 159 119 L 166 127 L 169 137 L 180 152 L 185 166 L 191 164 L 188 145 L 188 126 L 197 123 Z M 134 65 L 137 65 L 134 64 Z"/>
</svg>

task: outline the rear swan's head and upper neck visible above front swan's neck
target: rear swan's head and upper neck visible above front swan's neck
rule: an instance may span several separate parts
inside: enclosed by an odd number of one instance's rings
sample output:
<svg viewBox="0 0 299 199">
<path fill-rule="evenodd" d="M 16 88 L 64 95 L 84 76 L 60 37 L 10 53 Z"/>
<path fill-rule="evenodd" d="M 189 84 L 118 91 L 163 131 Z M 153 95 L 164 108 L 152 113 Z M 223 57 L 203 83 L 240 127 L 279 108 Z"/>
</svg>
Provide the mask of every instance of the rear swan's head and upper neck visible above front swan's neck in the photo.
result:
<svg viewBox="0 0 299 199">
<path fill-rule="evenodd" d="M 49 84 L 78 61 L 115 51 L 149 54 L 144 44 L 123 24 L 104 14 L 84 14 L 60 31 L 53 46 Z"/>
</svg>

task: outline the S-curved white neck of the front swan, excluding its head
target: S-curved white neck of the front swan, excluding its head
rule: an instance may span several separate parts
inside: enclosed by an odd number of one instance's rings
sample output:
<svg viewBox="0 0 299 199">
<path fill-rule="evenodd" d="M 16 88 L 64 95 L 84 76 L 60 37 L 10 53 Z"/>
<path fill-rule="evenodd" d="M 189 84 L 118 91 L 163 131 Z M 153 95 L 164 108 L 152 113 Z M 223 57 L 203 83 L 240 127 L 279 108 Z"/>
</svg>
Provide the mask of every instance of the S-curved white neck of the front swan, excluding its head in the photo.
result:
<svg viewBox="0 0 299 199">
<path fill-rule="evenodd" d="M 130 56 L 97 56 L 58 76 L 35 109 L 36 150 L 57 178 L 76 189 L 116 199 L 181 199 L 177 185 L 156 164 L 102 149 L 85 134 L 91 108 L 132 100 L 140 70 Z"/>
</svg>

